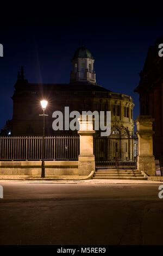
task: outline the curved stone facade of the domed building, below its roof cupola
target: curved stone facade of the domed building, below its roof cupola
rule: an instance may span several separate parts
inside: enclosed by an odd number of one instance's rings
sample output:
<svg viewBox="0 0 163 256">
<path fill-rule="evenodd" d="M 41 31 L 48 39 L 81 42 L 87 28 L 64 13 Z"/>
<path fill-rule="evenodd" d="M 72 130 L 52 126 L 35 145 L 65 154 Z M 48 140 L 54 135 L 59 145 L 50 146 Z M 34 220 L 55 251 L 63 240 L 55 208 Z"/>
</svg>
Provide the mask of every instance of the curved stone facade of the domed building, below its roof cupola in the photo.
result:
<svg viewBox="0 0 163 256">
<path fill-rule="evenodd" d="M 42 96 L 42 87 L 44 95 Z M 30 84 L 26 80 L 17 81 L 16 90 L 12 96 L 12 136 L 41 136 L 42 113 L 40 100 L 48 100 L 46 110 L 46 135 L 54 136 L 70 134 L 71 131 L 54 131 L 52 129 L 54 111 L 64 112 L 65 106 L 70 112 L 82 111 L 111 111 L 111 126 L 125 127 L 133 131 L 133 99 L 130 96 L 112 93 L 109 90 L 93 84 Z M 73 135 L 77 131 L 73 132 Z"/>
</svg>

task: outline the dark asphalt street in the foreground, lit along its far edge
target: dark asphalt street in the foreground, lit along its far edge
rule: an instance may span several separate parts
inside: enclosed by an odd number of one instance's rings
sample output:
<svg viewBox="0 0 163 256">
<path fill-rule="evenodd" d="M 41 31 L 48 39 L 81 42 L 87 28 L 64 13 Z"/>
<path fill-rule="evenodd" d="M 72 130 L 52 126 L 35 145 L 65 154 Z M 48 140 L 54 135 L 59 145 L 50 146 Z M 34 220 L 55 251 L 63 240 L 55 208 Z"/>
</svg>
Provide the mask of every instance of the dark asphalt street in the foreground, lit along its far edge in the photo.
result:
<svg viewBox="0 0 163 256">
<path fill-rule="evenodd" d="M 159 184 L 0 185 L 0 245 L 163 244 Z"/>
</svg>

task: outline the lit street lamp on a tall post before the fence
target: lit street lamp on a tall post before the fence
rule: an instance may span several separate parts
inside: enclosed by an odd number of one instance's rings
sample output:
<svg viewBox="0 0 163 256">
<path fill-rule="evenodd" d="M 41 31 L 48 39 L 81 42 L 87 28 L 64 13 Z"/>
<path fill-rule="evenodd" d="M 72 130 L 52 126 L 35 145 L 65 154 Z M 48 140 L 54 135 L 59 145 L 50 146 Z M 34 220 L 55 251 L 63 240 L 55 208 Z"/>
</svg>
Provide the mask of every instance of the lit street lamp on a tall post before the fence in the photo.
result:
<svg viewBox="0 0 163 256">
<path fill-rule="evenodd" d="M 42 165 L 41 165 L 41 178 L 45 178 L 45 109 L 47 107 L 47 101 L 46 100 L 41 100 L 41 106 L 43 110 L 43 142 L 42 142 Z"/>
</svg>

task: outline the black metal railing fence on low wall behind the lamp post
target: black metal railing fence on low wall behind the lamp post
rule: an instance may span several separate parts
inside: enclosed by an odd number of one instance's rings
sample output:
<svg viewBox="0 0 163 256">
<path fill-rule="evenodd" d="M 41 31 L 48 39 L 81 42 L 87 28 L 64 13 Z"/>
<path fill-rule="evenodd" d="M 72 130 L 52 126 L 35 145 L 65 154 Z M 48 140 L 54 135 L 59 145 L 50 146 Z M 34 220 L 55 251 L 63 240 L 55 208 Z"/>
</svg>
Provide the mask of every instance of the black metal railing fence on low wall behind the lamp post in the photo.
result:
<svg viewBox="0 0 163 256">
<path fill-rule="evenodd" d="M 0 137 L 0 161 L 42 159 L 42 137 Z M 78 160 L 78 136 L 45 137 L 45 160 Z"/>
</svg>

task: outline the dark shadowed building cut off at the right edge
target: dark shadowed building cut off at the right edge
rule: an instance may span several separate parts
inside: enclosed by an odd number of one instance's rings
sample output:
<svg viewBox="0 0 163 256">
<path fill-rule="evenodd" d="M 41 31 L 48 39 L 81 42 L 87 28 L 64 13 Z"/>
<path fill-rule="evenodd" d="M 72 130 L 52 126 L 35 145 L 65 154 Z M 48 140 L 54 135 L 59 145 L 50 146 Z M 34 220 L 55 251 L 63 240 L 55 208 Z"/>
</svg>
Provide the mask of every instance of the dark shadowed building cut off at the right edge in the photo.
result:
<svg viewBox="0 0 163 256">
<path fill-rule="evenodd" d="M 145 65 L 140 72 L 140 83 L 134 92 L 140 95 L 140 115 L 151 115 L 153 122 L 153 154 L 163 166 L 163 57 L 159 45 L 163 37 L 150 46 Z"/>
</svg>

